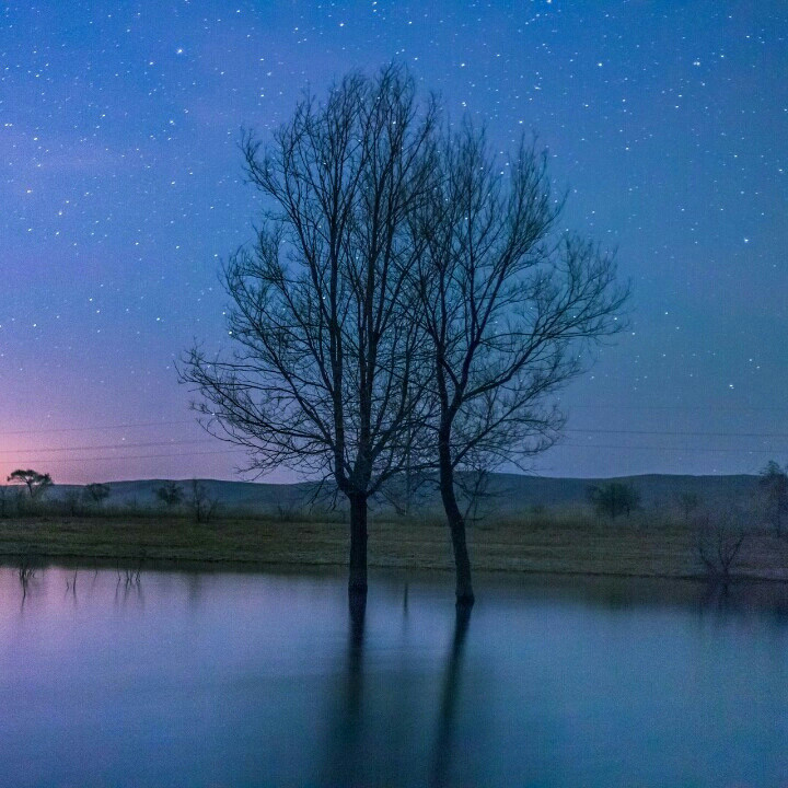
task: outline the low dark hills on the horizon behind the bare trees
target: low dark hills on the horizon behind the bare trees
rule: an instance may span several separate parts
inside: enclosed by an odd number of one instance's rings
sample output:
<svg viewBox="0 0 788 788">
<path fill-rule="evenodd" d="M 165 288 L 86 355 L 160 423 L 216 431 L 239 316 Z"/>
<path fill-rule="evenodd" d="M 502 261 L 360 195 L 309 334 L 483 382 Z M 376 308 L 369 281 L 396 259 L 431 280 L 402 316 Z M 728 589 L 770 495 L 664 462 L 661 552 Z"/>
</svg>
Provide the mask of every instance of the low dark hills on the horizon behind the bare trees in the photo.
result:
<svg viewBox="0 0 788 788">
<path fill-rule="evenodd" d="M 141 479 L 136 482 L 113 482 L 107 506 L 134 506 L 141 508 L 161 506 L 155 490 L 165 479 Z M 280 509 L 303 509 L 314 500 L 316 485 L 264 484 L 257 482 L 221 482 L 200 479 L 211 498 L 222 508 L 248 513 L 276 513 Z M 493 474 L 488 486 L 488 506 L 501 514 L 517 514 L 534 507 L 576 507 L 588 500 L 588 488 L 595 484 L 623 482 L 633 485 L 640 494 L 644 509 L 665 509 L 677 506 L 679 496 L 684 493 L 697 495 L 705 507 L 729 507 L 732 503 L 749 505 L 757 489 L 757 476 L 680 476 L 649 474 L 610 479 L 555 478 L 525 476 L 519 474 Z M 190 480 L 178 482 L 188 494 Z M 54 485 L 47 491 L 47 499 L 62 499 L 69 490 L 80 491 L 73 485 Z M 317 506 L 325 507 L 331 500 L 332 488 L 324 486 Z M 344 507 L 343 497 L 337 501 Z M 378 501 L 378 511 L 391 509 L 385 501 Z M 440 500 L 434 488 L 425 489 L 419 502 L 420 512 L 440 511 Z"/>
</svg>

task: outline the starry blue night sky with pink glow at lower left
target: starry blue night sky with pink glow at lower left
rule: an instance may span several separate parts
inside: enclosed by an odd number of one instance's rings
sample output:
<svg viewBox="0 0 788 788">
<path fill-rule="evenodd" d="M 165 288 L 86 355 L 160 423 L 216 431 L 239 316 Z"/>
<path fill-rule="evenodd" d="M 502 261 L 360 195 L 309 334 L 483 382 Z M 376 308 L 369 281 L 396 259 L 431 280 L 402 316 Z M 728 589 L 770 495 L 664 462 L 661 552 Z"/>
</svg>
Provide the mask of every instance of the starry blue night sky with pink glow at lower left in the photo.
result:
<svg viewBox="0 0 788 788">
<path fill-rule="evenodd" d="M 451 118 L 538 135 L 567 228 L 616 248 L 630 329 L 560 395 L 551 476 L 788 462 L 785 0 L 0 7 L 0 474 L 236 478 L 174 361 L 225 346 L 251 240 L 242 128 L 407 63 Z M 269 480 L 287 480 L 276 474 Z"/>
</svg>

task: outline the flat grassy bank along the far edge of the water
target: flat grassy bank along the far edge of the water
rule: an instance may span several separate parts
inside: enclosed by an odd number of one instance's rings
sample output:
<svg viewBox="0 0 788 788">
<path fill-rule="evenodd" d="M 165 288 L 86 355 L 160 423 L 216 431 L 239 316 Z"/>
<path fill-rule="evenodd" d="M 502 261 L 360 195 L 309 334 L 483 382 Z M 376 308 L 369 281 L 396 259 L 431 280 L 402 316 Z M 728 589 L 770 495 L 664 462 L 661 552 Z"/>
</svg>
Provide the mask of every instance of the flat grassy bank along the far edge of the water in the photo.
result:
<svg viewBox="0 0 788 788">
<path fill-rule="evenodd" d="M 697 531 L 677 523 L 528 515 L 468 529 L 474 567 L 511 572 L 699 577 Z M 348 528 L 339 522 L 179 518 L 24 518 L 0 520 L 0 559 L 69 559 L 148 565 L 200 561 L 247 565 L 345 565 Z M 451 569 L 441 522 L 370 523 L 369 563 Z M 753 530 L 732 576 L 788 580 L 788 540 Z"/>
</svg>

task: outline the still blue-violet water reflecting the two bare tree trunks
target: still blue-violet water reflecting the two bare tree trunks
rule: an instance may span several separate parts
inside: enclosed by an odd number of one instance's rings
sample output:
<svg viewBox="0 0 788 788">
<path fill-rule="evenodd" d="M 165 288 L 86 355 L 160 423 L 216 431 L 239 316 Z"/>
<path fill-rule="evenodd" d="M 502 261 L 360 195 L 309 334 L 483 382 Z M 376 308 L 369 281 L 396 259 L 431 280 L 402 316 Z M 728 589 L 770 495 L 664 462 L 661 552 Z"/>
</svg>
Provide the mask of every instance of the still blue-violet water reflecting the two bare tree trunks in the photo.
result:
<svg viewBox="0 0 788 788">
<path fill-rule="evenodd" d="M 781 587 L 72 578 L 0 569 L 2 785 L 788 786 Z"/>
</svg>

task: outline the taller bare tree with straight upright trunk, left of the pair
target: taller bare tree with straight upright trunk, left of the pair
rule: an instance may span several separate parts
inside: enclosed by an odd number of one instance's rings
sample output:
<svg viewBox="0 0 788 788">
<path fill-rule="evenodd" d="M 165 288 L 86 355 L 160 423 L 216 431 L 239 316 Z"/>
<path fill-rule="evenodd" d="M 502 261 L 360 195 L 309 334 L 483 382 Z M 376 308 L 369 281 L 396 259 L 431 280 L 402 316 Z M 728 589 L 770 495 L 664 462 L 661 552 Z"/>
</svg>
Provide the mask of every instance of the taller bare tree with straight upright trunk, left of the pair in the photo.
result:
<svg viewBox="0 0 788 788">
<path fill-rule="evenodd" d="M 429 402 L 407 219 L 431 187 L 434 125 L 434 102 L 390 66 L 306 96 L 267 147 L 246 136 L 269 210 L 223 270 L 236 350 L 182 364 L 204 426 L 246 447 L 247 470 L 292 467 L 348 498 L 351 593 L 367 590 L 368 501 Z"/>
</svg>

